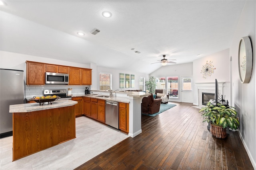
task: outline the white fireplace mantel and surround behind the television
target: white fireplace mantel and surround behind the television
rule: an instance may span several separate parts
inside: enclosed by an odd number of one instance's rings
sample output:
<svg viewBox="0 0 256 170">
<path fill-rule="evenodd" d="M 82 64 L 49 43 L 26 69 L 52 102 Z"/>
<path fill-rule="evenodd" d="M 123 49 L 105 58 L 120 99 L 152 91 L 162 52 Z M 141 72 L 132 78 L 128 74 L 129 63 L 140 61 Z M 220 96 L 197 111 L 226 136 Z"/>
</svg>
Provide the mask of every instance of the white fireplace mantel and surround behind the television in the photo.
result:
<svg viewBox="0 0 256 170">
<path fill-rule="evenodd" d="M 223 94 L 225 82 L 218 82 L 218 90 L 220 94 Z M 215 93 L 215 82 L 208 82 L 208 83 L 194 83 L 194 105 L 203 107 L 202 106 L 202 92 L 211 92 Z M 200 93 L 200 94 L 199 94 Z"/>
</svg>

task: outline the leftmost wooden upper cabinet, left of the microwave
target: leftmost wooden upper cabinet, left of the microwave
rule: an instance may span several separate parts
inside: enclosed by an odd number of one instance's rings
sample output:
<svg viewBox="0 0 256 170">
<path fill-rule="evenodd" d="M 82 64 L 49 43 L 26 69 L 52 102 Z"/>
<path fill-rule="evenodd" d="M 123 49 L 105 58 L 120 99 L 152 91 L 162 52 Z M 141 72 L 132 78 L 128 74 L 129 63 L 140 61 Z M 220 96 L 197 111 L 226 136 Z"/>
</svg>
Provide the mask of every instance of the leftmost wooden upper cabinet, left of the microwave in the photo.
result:
<svg viewBox="0 0 256 170">
<path fill-rule="evenodd" d="M 26 84 L 45 84 L 45 64 L 26 61 L 27 64 L 27 78 Z"/>
</svg>

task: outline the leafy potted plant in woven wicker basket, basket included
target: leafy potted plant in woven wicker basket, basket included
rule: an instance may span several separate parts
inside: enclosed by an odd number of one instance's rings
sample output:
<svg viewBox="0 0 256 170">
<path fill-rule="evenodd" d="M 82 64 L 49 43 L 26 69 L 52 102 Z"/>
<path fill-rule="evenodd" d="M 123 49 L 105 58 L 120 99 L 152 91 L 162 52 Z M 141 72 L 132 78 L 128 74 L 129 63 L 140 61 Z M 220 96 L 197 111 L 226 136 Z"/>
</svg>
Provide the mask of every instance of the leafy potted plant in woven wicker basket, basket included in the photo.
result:
<svg viewBox="0 0 256 170">
<path fill-rule="evenodd" d="M 210 123 L 210 133 L 217 138 L 224 139 L 227 136 L 226 127 L 232 130 L 238 129 L 239 121 L 236 108 L 217 104 L 217 106 L 207 103 L 206 107 L 202 107 L 199 111 L 204 117 L 204 121 Z"/>
</svg>

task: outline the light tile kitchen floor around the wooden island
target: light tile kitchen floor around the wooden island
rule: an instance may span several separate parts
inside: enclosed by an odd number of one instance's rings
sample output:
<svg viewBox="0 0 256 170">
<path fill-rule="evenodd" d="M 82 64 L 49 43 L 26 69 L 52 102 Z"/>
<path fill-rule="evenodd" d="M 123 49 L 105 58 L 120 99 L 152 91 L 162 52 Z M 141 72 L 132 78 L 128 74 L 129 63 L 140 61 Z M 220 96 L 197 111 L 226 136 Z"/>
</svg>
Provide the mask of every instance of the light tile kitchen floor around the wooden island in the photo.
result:
<svg viewBox="0 0 256 170">
<path fill-rule="evenodd" d="M 76 139 L 12 162 L 12 137 L 0 139 L 1 170 L 73 170 L 128 138 L 87 117 L 76 118 Z"/>
</svg>

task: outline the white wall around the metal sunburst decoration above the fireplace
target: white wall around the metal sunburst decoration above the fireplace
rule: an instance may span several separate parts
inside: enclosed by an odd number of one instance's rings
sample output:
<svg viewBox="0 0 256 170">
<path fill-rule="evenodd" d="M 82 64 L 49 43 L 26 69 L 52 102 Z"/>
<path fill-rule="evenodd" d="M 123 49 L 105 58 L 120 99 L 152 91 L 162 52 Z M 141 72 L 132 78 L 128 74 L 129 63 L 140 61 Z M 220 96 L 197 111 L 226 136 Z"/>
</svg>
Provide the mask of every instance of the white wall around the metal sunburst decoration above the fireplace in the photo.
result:
<svg viewBox="0 0 256 170">
<path fill-rule="evenodd" d="M 214 73 L 210 77 L 204 79 L 202 76 L 201 70 L 202 70 L 202 66 L 206 64 L 206 61 L 208 62 L 212 61 L 212 64 L 216 69 L 214 70 Z M 210 83 L 210 82 L 214 83 L 215 79 L 217 79 L 218 82 L 225 82 L 222 95 L 225 95 L 226 96 L 225 99 L 230 101 L 229 63 L 230 63 L 229 49 L 194 60 L 193 61 L 194 83 Z M 197 96 L 195 93 L 196 93 L 196 90 L 194 90 L 194 97 Z M 196 101 L 195 98 L 194 98 L 194 101 Z"/>
</svg>

